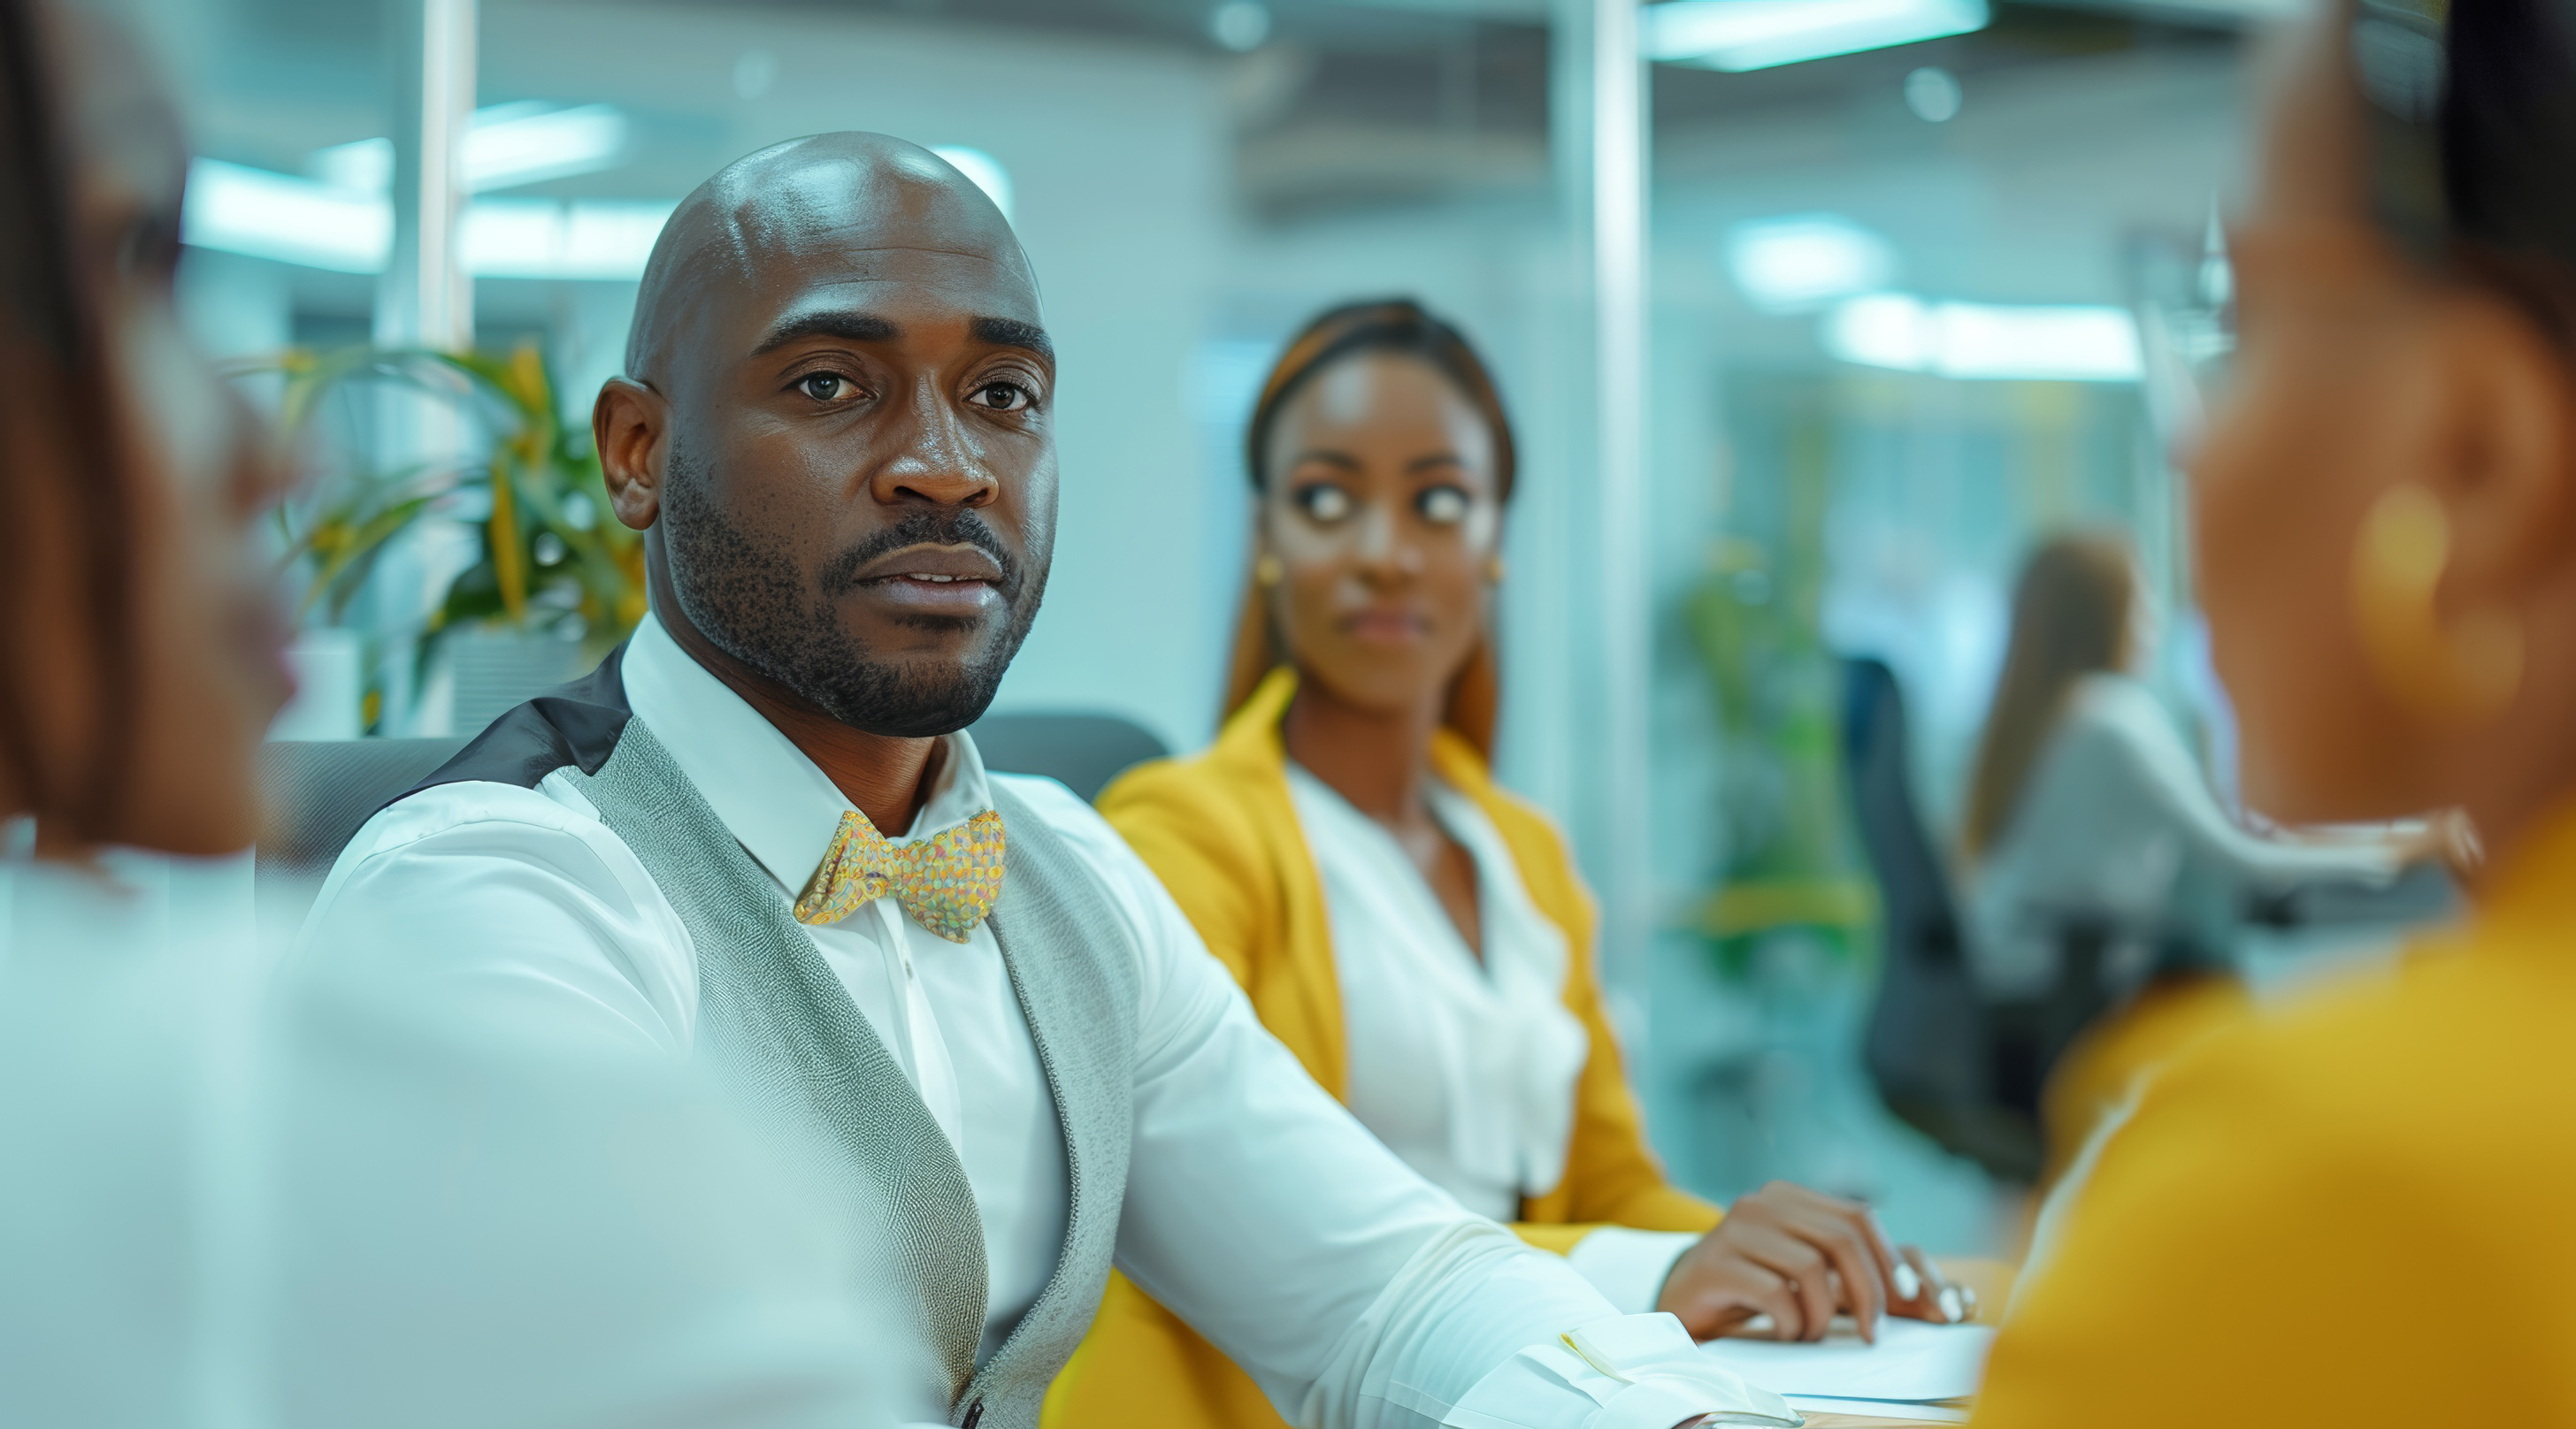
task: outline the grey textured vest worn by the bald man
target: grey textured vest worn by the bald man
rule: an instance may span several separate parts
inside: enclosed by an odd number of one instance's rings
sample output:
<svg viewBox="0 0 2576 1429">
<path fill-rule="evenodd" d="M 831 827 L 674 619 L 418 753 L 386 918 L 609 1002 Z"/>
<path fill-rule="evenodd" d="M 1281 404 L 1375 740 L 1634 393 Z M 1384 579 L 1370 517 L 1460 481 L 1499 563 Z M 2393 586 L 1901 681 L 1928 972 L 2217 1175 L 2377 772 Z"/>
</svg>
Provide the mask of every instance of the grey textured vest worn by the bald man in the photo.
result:
<svg viewBox="0 0 2576 1429">
<path fill-rule="evenodd" d="M 917 1326 L 894 1375 L 948 1388 L 951 1424 L 1036 1429 L 1046 1388 L 1100 1308 L 1126 1200 L 1139 958 L 1092 868 L 1007 788 L 992 932 L 1064 1128 L 1072 1208 L 1036 1305 L 989 1362 L 984 1231 L 956 1148 L 868 1017 L 670 752 L 626 721 L 595 775 L 567 770 L 698 945 L 698 1051 L 822 1161 L 873 1254 L 868 1295 Z M 819 857 L 819 855 L 817 855 Z"/>
</svg>

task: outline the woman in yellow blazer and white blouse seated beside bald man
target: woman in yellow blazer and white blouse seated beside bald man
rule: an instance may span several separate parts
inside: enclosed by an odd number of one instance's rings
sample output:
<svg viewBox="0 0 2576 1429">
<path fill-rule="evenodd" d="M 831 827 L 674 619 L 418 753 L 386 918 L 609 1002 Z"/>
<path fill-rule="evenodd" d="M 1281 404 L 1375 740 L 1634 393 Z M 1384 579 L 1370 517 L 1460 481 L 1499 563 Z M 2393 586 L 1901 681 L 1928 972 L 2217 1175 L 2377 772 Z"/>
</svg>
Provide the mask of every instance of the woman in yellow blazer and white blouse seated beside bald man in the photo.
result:
<svg viewBox="0 0 2576 1429">
<path fill-rule="evenodd" d="M 1422 306 L 1324 312 L 1247 430 L 1257 492 L 1216 747 L 1100 811 L 1252 1009 L 1412 1169 L 1695 1336 L 1821 1339 L 1837 1311 L 1965 1305 L 1868 1208 L 1793 1184 L 1716 1205 L 1664 1179 L 1602 1014 L 1592 896 L 1494 783 L 1494 592 L 1512 427 Z M 1942 1293 L 1950 1293 L 1947 1308 Z M 1262 1424 L 1234 1365 L 1113 1280 L 1048 1424 Z"/>
</svg>

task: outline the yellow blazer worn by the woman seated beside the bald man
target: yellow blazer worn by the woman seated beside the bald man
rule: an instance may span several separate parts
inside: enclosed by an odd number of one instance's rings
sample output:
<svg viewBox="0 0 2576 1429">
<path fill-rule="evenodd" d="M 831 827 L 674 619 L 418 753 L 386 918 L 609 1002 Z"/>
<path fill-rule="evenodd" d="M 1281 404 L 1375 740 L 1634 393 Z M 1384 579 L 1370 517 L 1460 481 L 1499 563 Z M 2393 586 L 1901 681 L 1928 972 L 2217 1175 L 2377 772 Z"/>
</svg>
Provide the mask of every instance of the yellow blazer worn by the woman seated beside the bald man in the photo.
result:
<svg viewBox="0 0 2576 1429">
<path fill-rule="evenodd" d="M 1296 677 L 1273 672 L 1193 760 L 1144 765 L 1100 796 L 1100 814 L 1162 878 L 1180 911 L 1234 973 L 1252 1012 L 1334 1097 L 1345 1097 L 1342 986 L 1332 966 L 1324 886 L 1288 801 L 1280 716 Z M 1566 1007 L 1592 1035 L 1574 1084 L 1574 1133 L 1564 1182 L 1522 1200 L 1512 1231 L 1564 1254 L 1595 1226 L 1708 1231 L 1718 1208 L 1674 1190 L 1638 1125 L 1618 1040 L 1592 968 L 1592 896 L 1543 814 L 1494 785 L 1484 760 L 1450 731 L 1432 742 L 1432 767 L 1476 801 L 1520 865 L 1530 901 L 1566 932 Z M 1090 1339 L 1046 1398 L 1046 1429 L 1154 1424 L 1216 1429 L 1280 1424 L 1252 1380 L 1123 1275 Z"/>
</svg>

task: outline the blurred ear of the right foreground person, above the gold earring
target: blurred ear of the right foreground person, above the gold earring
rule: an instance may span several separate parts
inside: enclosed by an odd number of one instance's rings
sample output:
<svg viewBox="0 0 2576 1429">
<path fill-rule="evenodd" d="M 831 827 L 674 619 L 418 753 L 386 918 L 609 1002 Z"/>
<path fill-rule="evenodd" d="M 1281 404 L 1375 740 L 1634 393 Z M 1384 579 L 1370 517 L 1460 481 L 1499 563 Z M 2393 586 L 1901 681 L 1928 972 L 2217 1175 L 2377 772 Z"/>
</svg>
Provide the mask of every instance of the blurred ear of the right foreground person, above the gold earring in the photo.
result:
<svg viewBox="0 0 2576 1429">
<path fill-rule="evenodd" d="M 2450 600 L 2517 605 L 2576 556 L 2576 371 L 2532 319 L 2486 294 L 2442 299 L 2434 497 L 2450 507 Z M 2450 602 L 2445 600 L 2445 602 Z"/>
</svg>

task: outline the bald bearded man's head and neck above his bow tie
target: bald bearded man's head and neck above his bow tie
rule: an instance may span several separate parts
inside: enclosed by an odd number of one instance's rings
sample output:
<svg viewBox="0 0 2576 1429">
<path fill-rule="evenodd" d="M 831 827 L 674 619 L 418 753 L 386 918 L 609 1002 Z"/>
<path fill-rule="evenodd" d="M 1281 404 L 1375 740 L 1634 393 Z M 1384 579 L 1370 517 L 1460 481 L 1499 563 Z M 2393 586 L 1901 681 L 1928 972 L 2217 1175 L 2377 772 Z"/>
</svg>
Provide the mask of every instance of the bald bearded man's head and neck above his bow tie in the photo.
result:
<svg viewBox="0 0 2576 1429">
<path fill-rule="evenodd" d="M 760 149 L 654 245 L 592 415 L 618 520 L 670 633 L 881 827 L 1038 613 L 1054 381 L 1010 224 L 902 139 Z"/>
</svg>

